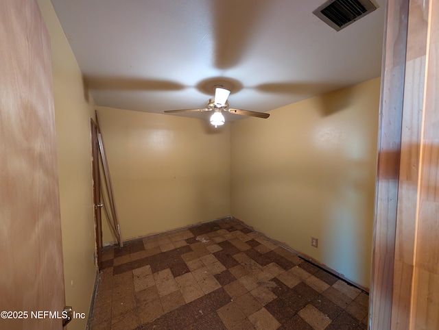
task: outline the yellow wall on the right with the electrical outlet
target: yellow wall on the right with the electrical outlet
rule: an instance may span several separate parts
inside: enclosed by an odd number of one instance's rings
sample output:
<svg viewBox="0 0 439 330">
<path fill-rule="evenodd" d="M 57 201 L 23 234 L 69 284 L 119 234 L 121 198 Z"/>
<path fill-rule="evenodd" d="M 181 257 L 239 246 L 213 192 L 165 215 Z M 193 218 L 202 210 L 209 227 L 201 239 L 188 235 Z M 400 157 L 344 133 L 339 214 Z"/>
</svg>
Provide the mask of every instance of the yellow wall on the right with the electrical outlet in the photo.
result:
<svg viewBox="0 0 439 330">
<path fill-rule="evenodd" d="M 231 127 L 231 214 L 364 287 L 379 87 L 372 79 Z"/>
</svg>

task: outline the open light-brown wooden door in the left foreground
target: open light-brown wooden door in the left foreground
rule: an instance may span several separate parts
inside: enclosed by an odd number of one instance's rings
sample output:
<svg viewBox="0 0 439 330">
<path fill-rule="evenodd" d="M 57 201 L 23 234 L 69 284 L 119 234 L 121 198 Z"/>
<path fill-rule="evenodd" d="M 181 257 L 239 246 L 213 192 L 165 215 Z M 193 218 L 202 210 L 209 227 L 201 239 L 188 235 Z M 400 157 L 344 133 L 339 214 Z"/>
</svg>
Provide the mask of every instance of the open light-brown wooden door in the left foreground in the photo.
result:
<svg viewBox="0 0 439 330">
<path fill-rule="evenodd" d="M 21 317 L 0 329 L 62 329 L 31 314 L 65 301 L 50 42 L 36 0 L 1 1 L 0 40 L 0 312 Z"/>
</svg>

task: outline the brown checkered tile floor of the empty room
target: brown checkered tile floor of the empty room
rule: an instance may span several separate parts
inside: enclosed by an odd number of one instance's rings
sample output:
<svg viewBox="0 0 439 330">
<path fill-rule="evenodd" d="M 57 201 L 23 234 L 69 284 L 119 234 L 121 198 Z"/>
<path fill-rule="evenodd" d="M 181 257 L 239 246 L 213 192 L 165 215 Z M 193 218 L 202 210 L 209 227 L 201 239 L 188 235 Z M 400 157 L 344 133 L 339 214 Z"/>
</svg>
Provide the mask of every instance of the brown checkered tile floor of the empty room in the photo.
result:
<svg viewBox="0 0 439 330">
<path fill-rule="evenodd" d="M 237 220 L 107 247 L 91 329 L 367 329 L 368 295 Z"/>
</svg>

